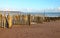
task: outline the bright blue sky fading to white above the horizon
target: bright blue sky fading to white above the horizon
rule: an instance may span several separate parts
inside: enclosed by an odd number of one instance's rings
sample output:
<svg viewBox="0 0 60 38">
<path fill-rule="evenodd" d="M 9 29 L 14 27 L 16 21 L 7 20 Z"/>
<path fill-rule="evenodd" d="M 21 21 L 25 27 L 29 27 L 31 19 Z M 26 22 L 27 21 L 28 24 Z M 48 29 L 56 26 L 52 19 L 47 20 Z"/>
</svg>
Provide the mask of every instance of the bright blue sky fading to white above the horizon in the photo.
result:
<svg viewBox="0 0 60 38">
<path fill-rule="evenodd" d="M 0 0 L 0 10 L 40 11 L 60 9 L 60 0 Z"/>
</svg>

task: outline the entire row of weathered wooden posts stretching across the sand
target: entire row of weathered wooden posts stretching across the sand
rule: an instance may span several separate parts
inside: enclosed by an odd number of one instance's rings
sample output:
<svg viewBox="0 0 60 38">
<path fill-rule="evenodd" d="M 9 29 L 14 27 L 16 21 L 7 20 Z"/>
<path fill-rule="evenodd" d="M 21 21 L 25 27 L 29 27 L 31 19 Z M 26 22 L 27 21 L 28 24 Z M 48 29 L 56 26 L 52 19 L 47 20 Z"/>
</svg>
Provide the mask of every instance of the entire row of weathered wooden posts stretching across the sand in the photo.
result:
<svg viewBox="0 0 60 38">
<path fill-rule="evenodd" d="M 38 23 L 43 23 L 43 22 L 50 22 L 50 21 L 55 21 L 55 20 L 60 20 L 60 17 L 45 17 L 45 16 L 35 16 L 31 14 L 27 15 L 13 15 L 11 16 L 10 14 L 2 15 L 0 14 L 0 27 L 4 28 L 11 28 L 12 25 L 31 25 L 31 24 L 38 24 Z"/>
</svg>

